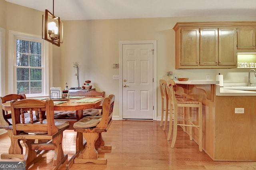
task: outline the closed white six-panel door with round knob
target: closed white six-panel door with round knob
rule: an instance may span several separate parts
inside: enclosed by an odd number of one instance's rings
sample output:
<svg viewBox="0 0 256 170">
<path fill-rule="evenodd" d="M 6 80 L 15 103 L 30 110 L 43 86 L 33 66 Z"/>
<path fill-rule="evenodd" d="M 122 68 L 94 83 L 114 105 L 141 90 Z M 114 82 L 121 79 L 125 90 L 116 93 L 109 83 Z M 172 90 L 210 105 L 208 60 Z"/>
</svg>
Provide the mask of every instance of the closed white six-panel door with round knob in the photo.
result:
<svg viewBox="0 0 256 170">
<path fill-rule="evenodd" d="M 123 119 L 153 119 L 153 44 L 122 45 Z"/>
</svg>

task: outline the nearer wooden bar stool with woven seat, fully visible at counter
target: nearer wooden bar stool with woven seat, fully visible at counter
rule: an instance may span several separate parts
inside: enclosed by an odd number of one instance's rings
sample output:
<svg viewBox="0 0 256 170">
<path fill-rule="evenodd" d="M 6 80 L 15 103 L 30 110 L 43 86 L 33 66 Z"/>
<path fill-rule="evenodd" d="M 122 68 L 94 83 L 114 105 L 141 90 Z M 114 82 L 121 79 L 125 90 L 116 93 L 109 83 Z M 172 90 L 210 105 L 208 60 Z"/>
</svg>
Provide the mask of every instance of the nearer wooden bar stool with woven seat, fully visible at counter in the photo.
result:
<svg viewBox="0 0 256 170">
<path fill-rule="evenodd" d="M 168 98 L 169 98 L 169 106 L 170 106 L 170 110 L 173 109 L 174 111 L 174 116 L 173 116 L 173 134 L 172 134 L 172 144 L 171 144 L 171 148 L 174 148 L 174 144 L 176 141 L 176 136 L 177 136 L 177 127 L 178 125 L 180 126 L 187 126 L 189 127 L 189 137 L 190 140 L 192 140 L 192 127 L 195 127 L 199 130 L 199 141 L 198 141 L 198 145 L 199 145 L 199 151 L 202 152 L 202 103 L 199 101 L 194 101 L 192 99 L 185 99 L 185 98 L 176 98 L 175 97 L 175 91 L 174 91 L 174 86 L 175 86 L 175 82 L 172 79 L 168 79 L 167 80 L 167 94 L 168 94 Z M 188 118 L 186 119 L 187 123 L 183 123 L 183 124 L 178 124 L 178 121 L 183 120 L 183 119 L 178 119 L 178 107 L 185 107 L 187 108 L 186 111 L 188 111 Z M 191 113 L 191 108 L 198 108 L 198 125 L 195 125 L 192 122 L 192 113 Z M 168 138 L 167 140 L 170 140 L 170 136 L 172 133 L 172 121 L 170 121 L 170 125 L 169 125 L 169 132 L 168 132 Z"/>
</svg>

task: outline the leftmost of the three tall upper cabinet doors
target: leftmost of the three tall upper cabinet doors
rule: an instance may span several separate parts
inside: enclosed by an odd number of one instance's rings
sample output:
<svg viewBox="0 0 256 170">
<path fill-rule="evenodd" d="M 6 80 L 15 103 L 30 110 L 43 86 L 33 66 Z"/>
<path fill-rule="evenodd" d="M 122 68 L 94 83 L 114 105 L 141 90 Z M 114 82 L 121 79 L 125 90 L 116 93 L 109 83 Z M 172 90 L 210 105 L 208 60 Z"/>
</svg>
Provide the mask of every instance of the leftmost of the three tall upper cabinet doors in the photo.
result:
<svg viewBox="0 0 256 170">
<path fill-rule="evenodd" d="M 181 65 L 199 65 L 199 29 L 181 29 Z"/>
</svg>

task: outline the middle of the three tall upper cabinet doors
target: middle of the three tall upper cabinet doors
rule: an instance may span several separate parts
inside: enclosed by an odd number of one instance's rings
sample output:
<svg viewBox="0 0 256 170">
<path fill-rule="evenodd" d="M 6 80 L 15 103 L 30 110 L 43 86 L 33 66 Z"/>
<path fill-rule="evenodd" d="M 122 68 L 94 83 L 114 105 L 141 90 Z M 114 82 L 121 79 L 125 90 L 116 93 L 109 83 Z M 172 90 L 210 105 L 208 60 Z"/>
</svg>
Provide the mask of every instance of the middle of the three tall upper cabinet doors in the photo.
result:
<svg viewBox="0 0 256 170">
<path fill-rule="evenodd" d="M 218 28 L 200 29 L 200 65 L 218 65 Z"/>
</svg>

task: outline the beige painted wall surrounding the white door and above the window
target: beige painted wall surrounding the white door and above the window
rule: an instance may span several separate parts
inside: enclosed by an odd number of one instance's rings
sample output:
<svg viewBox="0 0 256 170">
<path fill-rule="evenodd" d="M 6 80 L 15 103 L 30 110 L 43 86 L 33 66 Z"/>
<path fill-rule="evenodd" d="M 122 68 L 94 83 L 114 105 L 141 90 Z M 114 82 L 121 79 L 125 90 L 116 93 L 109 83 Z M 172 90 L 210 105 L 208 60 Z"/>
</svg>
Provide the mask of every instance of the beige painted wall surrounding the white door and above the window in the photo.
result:
<svg viewBox="0 0 256 170">
<path fill-rule="evenodd" d="M 0 10 L 4 0 L 0 0 Z M 6 19 L 6 31 L 15 30 L 41 35 L 43 12 L 6 3 L 6 17 L 0 17 L 0 26 Z M 0 12 L 2 14 L 2 10 Z M 61 19 L 61 18 L 60 18 Z M 215 80 L 219 72 L 224 75 L 224 83 L 246 82 L 247 69 L 192 69 L 175 70 L 175 36 L 173 26 L 176 22 L 207 21 L 256 21 L 255 16 L 219 16 L 219 17 L 176 17 L 144 18 L 116 20 L 75 20 L 64 21 L 64 43 L 61 47 L 52 46 L 52 85 L 54 87 L 77 87 L 73 62 L 80 63 L 80 86 L 85 80 L 91 80 L 98 91 L 106 95 L 116 95 L 114 115 L 119 113 L 119 83 L 112 80 L 119 70 L 112 68 L 112 63 L 119 63 L 119 41 L 157 40 L 157 78 L 166 79 L 167 71 L 190 79 Z M 26 24 L 24 24 L 26 23 Z M 5 24 L 3 24 L 5 25 Z M 7 37 L 6 37 L 7 38 Z M 6 54 L 7 55 L 7 54 Z M 6 56 L 7 57 L 7 56 Z M 237 79 L 237 77 L 240 77 Z M 243 83 L 241 82 L 241 83 Z M 160 91 L 158 88 L 158 117 L 160 116 Z"/>
</svg>

